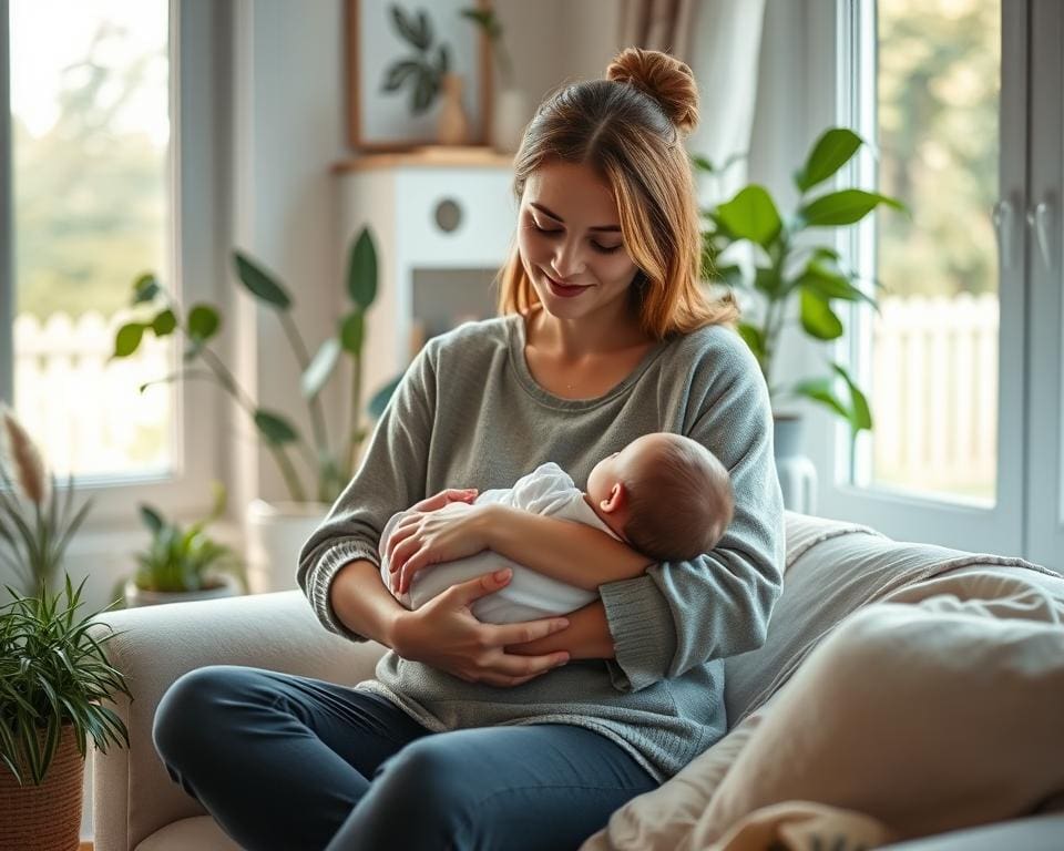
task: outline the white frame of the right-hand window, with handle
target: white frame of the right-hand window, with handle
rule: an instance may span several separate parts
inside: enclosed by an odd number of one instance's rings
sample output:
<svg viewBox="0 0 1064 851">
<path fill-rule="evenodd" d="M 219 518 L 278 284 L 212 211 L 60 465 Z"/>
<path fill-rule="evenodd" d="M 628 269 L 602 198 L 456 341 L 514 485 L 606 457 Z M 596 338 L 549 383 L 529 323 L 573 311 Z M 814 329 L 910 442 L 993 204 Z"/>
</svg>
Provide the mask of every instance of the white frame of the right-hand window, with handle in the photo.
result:
<svg viewBox="0 0 1064 851">
<path fill-rule="evenodd" d="M 869 121 L 874 119 L 874 82 L 857 69 L 859 62 L 874 62 L 874 50 L 869 50 L 869 32 L 874 31 L 874 0 L 833 0 L 818 2 L 810 9 L 807 32 L 809 55 L 806 85 L 812 92 L 831 92 L 818 109 L 811 109 L 810 129 L 818 116 L 826 116 L 835 125 L 853 127 L 868 136 Z M 1025 233 L 1022 212 L 1025 209 L 1024 175 L 1026 170 L 1027 116 L 1026 68 L 1023 45 L 1027 35 L 1027 3 L 1005 3 L 1002 14 L 1002 95 L 1000 191 L 1002 198 L 1013 205 L 1011 239 L 1014 246 L 1010 268 L 999 264 L 999 296 L 1001 321 L 999 339 L 1023 340 L 1027 310 L 1025 289 L 1026 268 L 1023 250 Z M 1020 10 L 1020 11 L 1017 11 Z M 864 38 L 864 42 L 861 41 Z M 871 42 L 874 45 L 874 41 Z M 863 49 L 862 49 L 863 48 Z M 819 52 L 818 52 L 819 51 Z M 871 54 L 871 55 L 869 55 Z M 869 96 L 871 91 L 871 96 Z M 862 94 L 863 96 L 859 96 Z M 869 99 L 870 98 L 870 99 Z M 871 105 L 869 113 L 867 106 Z M 831 112 L 829 113 L 828 110 Z M 874 127 L 874 124 L 871 125 Z M 871 139 L 870 141 L 873 141 Z M 858 181 L 850 185 L 874 186 L 870 155 L 862 155 L 841 174 L 840 181 Z M 989 211 L 988 211 L 989 214 Z M 836 247 L 856 268 L 867 270 L 874 264 L 874 216 L 837 234 Z M 832 356 L 856 369 L 859 383 L 869 386 L 872 311 L 867 306 L 853 306 L 846 317 L 846 334 L 833 346 Z M 999 410 L 998 410 L 998 491 L 991 507 L 965 504 L 934 496 L 855 484 L 857 473 L 866 473 L 869 453 L 851 457 L 848 427 L 838 418 L 817 410 L 808 413 L 807 451 L 821 474 L 818 513 L 873 525 L 882 532 L 903 540 L 933 542 L 945 546 L 985 552 L 1019 553 L 1024 548 L 1024 434 L 1026 419 L 1026 385 L 1022 346 L 999 346 Z M 874 416 L 874 411 L 873 411 Z"/>
</svg>

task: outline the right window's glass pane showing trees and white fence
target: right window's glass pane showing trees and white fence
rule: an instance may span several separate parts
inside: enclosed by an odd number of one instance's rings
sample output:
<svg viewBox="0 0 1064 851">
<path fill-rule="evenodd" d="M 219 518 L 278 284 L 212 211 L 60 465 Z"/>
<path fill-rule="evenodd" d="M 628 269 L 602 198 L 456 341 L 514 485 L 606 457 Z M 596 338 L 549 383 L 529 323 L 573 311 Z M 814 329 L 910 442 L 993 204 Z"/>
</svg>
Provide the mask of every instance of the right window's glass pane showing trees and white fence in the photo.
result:
<svg viewBox="0 0 1064 851">
<path fill-rule="evenodd" d="M 879 0 L 872 479 L 995 498 L 1000 0 Z"/>
</svg>

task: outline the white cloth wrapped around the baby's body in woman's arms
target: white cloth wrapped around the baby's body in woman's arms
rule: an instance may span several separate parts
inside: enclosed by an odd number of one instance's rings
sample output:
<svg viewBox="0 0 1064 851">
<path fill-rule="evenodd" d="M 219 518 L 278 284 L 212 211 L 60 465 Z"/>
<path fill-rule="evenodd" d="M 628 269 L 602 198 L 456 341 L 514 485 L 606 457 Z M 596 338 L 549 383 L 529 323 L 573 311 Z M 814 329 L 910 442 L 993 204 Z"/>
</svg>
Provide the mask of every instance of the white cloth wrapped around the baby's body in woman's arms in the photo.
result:
<svg viewBox="0 0 1064 851">
<path fill-rule="evenodd" d="M 546 463 L 538 466 L 528 475 L 521 476 L 513 488 L 499 488 L 484 491 L 477 496 L 477 505 L 498 503 L 510 507 L 530 511 L 534 514 L 586 523 L 600 529 L 613 537 L 617 535 L 595 514 L 584 501 L 584 494 L 573 483 L 569 473 L 557 464 Z M 444 512 L 469 511 L 467 503 L 451 503 L 440 509 Z M 392 515 L 380 535 L 380 575 L 385 585 L 389 585 L 389 560 L 385 555 L 388 537 L 396 524 L 407 516 L 409 511 Z M 492 571 L 510 567 L 513 577 L 510 584 L 494 594 L 481 597 L 473 604 L 473 614 L 483 623 L 512 624 L 521 621 L 535 621 L 540 617 L 564 615 L 586 606 L 598 595 L 575 585 L 536 573 L 510 558 L 490 550 L 453 562 L 437 564 L 421 571 L 410 583 L 410 589 L 399 602 L 407 608 L 419 608 L 437 594 L 459 582 L 475 578 Z M 389 585 L 390 587 L 390 585 Z"/>
</svg>

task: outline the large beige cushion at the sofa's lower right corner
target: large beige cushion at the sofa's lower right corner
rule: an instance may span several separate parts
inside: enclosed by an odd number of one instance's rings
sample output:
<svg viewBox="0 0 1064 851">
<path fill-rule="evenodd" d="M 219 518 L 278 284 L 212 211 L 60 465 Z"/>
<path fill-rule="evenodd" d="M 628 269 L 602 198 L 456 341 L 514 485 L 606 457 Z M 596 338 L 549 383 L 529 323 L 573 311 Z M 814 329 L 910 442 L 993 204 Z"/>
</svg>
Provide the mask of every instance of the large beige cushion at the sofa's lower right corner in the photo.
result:
<svg viewBox="0 0 1064 851">
<path fill-rule="evenodd" d="M 890 816 L 886 835 L 922 835 L 1064 790 L 1045 758 L 1064 746 L 1064 582 L 968 568 L 899 596 L 911 605 L 845 622 L 767 704 L 617 810 L 583 851 L 704 849 L 795 799 Z"/>
</svg>

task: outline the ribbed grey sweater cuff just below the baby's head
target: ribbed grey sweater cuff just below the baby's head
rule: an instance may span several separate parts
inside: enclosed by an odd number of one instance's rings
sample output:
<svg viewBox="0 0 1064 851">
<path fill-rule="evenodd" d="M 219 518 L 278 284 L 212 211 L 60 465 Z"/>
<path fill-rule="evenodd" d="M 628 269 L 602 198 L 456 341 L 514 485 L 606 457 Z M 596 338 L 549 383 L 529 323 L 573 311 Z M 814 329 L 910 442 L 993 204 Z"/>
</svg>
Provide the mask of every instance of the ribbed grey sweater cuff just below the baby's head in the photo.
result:
<svg viewBox="0 0 1064 851">
<path fill-rule="evenodd" d="M 618 691 L 638 691 L 663 679 L 676 650 L 672 609 L 649 576 L 598 587 L 616 659 L 608 664 Z"/>
</svg>

